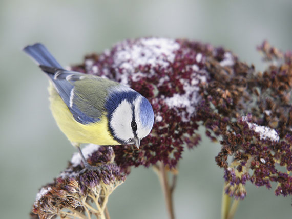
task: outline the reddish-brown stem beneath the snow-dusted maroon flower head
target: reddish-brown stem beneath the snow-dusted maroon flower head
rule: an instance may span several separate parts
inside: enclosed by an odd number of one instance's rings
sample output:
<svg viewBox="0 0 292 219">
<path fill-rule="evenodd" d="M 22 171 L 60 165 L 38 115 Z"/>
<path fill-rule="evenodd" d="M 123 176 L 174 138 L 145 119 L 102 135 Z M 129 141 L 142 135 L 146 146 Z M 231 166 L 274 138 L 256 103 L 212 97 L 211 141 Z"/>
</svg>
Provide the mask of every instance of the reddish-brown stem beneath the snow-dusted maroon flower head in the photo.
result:
<svg viewBox="0 0 292 219">
<path fill-rule="evenodd" d="M 157 169 L 156 169 L 157 170 Z M 159 163 L 159 171 L 157 171 L 157 174 L 159 176 L 160 184 L 164 193 L 164 198 L 166 202 L 166 209 L 169 214 L 170 219 L 174 219 L 174 210 L 173 210 L 173 200 L 172 200 L 172 193 L 175 188 L 175 177 L 174 182 L 172 184 L 172 187 L 169 186 L 168 182 L 168 175 L 167 170 L 165 170 L 164 164 L 162 162 Z"/>
</svg>

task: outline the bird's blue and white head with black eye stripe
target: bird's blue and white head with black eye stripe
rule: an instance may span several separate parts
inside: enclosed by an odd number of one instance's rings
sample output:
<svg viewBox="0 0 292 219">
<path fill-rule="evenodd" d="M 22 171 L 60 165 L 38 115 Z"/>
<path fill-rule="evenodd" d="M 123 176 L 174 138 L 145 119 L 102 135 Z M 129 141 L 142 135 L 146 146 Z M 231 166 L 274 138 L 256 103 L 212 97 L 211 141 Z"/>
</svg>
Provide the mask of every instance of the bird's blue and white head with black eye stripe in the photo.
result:
<svg viewBox="0 0 292 219">
<path fill-rule="evenodd" d="M 141 139 L 153 127 L 154 112 L 151 104 L 133 90 L 116 93 L 112 101 L 116 107 L 109 116 L 109 127 L 114 139 L 120 144 L 135 144 L 139 148 Z"/>
</svg>

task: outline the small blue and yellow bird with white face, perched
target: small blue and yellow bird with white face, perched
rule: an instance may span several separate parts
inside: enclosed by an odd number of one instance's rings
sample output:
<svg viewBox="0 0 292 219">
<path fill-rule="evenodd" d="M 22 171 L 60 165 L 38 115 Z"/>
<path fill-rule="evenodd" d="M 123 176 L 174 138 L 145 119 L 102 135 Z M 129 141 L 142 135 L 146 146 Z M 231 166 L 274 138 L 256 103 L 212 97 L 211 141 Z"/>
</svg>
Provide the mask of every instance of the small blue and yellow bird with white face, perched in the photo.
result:
<svg viewBox="0 0 292 219">
<path fill-rule="evenodd" d="M 49 77 L 50 108 L 60 130 L 75 146 L 86 169 L 97 170 L 82 154 L 80 145 L 135 144 L 149 135 L 153 108 L 137 91 L 110 79 L 70 71 L 41 43 L 26 46 L 28 54 Z"/>
</svg>

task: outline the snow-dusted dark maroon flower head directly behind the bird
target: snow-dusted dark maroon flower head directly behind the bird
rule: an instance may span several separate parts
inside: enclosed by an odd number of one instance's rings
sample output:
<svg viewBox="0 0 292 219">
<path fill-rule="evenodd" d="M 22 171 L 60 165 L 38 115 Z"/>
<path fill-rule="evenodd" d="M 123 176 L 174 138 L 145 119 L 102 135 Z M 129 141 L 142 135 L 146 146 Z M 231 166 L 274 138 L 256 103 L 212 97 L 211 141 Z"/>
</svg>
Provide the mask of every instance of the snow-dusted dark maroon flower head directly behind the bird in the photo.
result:
<svg viewBox="0 0 292 219">
<path fill-rule="evenodd" d="M 196 106 L 200 86 L 208 72 L 204 62 L 212 47 L 167 38 L 139 38 L 116 44 L 100 55 L 90 55 L 73 70 L 113 79 L 131 86 L 153 106 L 155 123 L 142 140 L 141 150 L 115 146 L 115 160 L 127 171 L 130 166 L 154 165 L 163 161 L 175 167 L 183 145 L 192 148 L 200 141 Z"/>
</svg>

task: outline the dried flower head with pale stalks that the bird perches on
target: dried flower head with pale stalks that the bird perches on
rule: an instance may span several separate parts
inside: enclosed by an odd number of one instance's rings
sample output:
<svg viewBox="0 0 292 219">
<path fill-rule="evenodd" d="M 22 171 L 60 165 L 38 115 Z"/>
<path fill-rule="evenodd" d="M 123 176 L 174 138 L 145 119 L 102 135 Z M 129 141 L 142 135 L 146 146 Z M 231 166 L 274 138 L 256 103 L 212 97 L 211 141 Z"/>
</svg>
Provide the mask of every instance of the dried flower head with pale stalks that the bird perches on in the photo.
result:
<svg viewBox="0 0 292 219">
<path fill-rule="evenodd" d="M 109 195 L 126 177 L 113 162 L 111 147 L 91 144 L 82 152 L 92 165 L 101 165 L 102 171 L 81 171 L 84 168 L 81 157 L 74 154 L 69 167 L 53 183 L 40 189 L 31 218 L 89 218 L 90 215 L 105 218 Z"/>
</svg>

